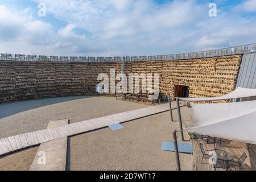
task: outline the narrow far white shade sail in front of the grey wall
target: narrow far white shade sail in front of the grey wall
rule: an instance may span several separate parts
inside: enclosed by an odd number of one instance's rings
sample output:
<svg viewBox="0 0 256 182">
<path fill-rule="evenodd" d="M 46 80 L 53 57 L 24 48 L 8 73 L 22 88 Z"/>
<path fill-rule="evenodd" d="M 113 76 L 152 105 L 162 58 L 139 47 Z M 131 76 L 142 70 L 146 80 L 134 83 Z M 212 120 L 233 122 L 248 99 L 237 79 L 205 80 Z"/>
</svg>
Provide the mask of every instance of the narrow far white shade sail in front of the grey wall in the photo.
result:
<svg viewBox="0 0 256 182">
<path fill-rule="evenodd" d="M 256 96 L 256 89 L 247 89 L 238 87 L 237 89 L 233 90 L 232 92 L 220 96 L 220 97 L 201 97 L 201 98 L 184 98 L 179 97 L 180 101 L 218 101 L 218 100 L 229 100 L 233 98 L 244 98 L 244 97 L 253 97 Z"/>
</svg>

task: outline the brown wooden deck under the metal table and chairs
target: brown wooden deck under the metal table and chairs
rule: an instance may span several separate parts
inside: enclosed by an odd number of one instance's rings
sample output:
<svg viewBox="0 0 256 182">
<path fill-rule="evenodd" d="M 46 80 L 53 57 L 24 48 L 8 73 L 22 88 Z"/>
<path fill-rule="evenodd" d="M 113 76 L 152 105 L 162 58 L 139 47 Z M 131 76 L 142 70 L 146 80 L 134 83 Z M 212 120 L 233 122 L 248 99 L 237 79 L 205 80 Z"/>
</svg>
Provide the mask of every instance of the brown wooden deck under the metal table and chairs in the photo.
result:
<svg viewBox="0 0 256 182">
<path fill-rule="evenodd" d="M 203 154 L 200 150 L 200 142 L 203 144 L 204 150 L 213 150 L 213 144 L 207 144 L 204 140 L 192 140 L 193 145 L 193 159 L 192 159 L 192 170 L 193 171 L 214 171 L 214 168 L 211 164 L 209 164 L 208 159 L 203 158 Z M 236 171 L 255 171 L 256 170 L 256 145 L 251 144 L 249 149 L 247 148 L 246 143 L 236 142 L 225 140 L 222 142 L 221 146 L 217 144 L 216 148 L 221 150 L 226 150 L 233 156 L 237 156 L 238 158 L 245 152 L 247 155 L 247 159 L 240 167 L 232 167 L 229 170 Z M 224 168 L 217 168 L 217 171 L 224 171 Z"/>
</svg>

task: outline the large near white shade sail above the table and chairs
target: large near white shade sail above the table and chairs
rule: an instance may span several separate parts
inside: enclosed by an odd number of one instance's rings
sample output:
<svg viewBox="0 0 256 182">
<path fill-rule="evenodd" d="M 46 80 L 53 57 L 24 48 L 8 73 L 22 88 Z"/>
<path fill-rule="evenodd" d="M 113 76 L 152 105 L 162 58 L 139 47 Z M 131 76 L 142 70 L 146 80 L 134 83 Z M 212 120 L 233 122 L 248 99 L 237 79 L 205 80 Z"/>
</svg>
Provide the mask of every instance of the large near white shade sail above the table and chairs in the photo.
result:
<svg viewBox="0 0 256 182">
<path fill-rule="evenodd" d="M 256 101 L 192 104 L 187 131 L 256 144 Z"/>
</svg>

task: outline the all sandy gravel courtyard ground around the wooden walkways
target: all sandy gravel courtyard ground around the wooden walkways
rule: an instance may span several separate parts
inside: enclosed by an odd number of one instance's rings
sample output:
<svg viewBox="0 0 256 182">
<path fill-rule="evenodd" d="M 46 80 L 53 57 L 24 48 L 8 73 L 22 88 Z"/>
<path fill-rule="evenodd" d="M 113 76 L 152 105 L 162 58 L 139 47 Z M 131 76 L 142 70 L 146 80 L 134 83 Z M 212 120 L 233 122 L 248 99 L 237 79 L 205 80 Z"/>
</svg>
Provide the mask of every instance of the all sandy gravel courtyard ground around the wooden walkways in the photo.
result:
<svg viewBox="0 0 256 182">
<path fill-rule="evenodd" d="M 114 97 L 51 98 L 0 105 L 0 116 L 5 115 L 0 119 L 0 138 L 45 129 L 52 119 L 68 118 L 77 122 L 147 106 Z M 185 114 L 188 111 L 185 107 L 181 111 L 183 119 L 190 118 Z M 176 169 L 174 153 L 161 150 L 162 142 L 172 140 L 172 131 L 179 126 L 170 122 L 169 112 L 123 123 L 123 126 L 125 128 L 117 131 L 105 128 L 69 138 L 68 169 Z M 38 147 L 30 148 L 0 158 L 0 170 L 29 169 L 37 150 Z M 191 159 L 192 155 L 180 154 L 183 170 L 191 169 Z"/>
</svg>

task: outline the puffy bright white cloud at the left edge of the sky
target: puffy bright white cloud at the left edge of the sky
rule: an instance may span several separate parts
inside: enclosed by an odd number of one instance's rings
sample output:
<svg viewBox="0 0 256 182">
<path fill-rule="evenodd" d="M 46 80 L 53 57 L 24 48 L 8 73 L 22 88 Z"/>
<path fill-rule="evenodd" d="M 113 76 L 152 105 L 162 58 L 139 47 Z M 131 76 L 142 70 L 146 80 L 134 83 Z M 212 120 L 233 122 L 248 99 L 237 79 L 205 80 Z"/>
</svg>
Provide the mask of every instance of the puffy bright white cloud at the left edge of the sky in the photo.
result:
<svg viewBox="0 0 256 182">
<path fill-rule="evenodd" d="M 0 40 L 20 44 L 49 44 L 54 37 L 53 27 L 49 23 L 33 20 L 30 9 L 10 10 L 0 6 Z M 10 51 L 12 47 L 10 47 Z"/>
</svg>

